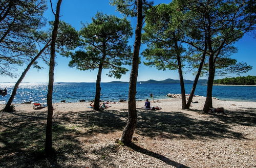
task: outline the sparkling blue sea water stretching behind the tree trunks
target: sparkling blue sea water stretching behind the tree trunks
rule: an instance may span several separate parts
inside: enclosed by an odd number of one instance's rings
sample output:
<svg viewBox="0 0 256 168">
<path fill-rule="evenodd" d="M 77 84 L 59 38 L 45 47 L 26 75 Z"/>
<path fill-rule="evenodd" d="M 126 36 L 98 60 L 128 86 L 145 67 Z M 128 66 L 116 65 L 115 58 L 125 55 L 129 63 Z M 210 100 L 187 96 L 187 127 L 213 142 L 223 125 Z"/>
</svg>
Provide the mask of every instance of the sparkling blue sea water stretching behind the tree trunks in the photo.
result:
<svg viewBox="0 0 256 168">
<path fill-rule="evenodd" d="M 5 104 L 15 83 L 0 83 L 0 89 L 7 88 L 8 95 L 0 97 L 0 104 Z M 186 93 L 190 93 L 192 84 L 185 84 Z M 33 101 L 44 103 L 47 97 L 48 83 L 21 83 L 13 103 Z M 207 86 L 198 85 L 195 95 L 206 96 Z M 103 101 L 119 101 L 128 99 L 128 83 L 101 83 L 101 97 Z M 142 83 L 137 85 L 137 100 L 144 100 L 150 93 L 155 99 L 168 98 L 167 93 L 180 93 L 179 83 Z M 55 83 L 53 102 L 78 102 L 81 99 L 93 100 L 95 83 Z M 214 86 L 212 96 L 221 100 L 256 101 L 256 87 L 252 86 Z"/>
</svg>

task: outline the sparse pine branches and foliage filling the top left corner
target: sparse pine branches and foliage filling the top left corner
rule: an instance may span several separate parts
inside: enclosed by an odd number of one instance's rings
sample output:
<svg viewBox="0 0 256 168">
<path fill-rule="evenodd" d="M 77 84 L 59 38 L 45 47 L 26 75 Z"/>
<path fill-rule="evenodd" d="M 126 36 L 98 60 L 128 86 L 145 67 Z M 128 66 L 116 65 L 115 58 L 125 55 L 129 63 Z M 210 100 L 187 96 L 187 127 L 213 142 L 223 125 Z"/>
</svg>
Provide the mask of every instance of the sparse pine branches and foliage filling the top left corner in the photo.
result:
<svg viewBox="0 0 256 168">
<path fill-rule="evenodd" d="M 33 37 L 45 24 L 46 1 L 3 0 L 0 6 L 0 74 L 14 77 L 15 66 L 37 51 Z"/>
</svg>

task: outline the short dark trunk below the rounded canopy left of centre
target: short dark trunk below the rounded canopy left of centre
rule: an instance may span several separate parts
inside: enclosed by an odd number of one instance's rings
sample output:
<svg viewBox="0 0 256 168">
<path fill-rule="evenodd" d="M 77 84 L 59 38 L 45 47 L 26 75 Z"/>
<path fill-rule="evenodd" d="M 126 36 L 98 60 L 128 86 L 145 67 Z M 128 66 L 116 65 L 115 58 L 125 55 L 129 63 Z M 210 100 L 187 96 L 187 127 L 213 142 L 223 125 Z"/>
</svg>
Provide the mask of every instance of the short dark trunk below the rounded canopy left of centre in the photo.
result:
<svg viewBox="0 0 256 168">
<path fill-rule="evenodd" d="M 103 63 L 100 63 L 97 80 L 96 80 L 96 92 L 95 92 L 95 98 L 94 98 L 94 109 L 97 111 L 100 110 L 99 101 L 100 101 L 100 91 L 101 91 L 100 81 L 101 81 L 102 68 L 103 68 Z"/>
</svg>

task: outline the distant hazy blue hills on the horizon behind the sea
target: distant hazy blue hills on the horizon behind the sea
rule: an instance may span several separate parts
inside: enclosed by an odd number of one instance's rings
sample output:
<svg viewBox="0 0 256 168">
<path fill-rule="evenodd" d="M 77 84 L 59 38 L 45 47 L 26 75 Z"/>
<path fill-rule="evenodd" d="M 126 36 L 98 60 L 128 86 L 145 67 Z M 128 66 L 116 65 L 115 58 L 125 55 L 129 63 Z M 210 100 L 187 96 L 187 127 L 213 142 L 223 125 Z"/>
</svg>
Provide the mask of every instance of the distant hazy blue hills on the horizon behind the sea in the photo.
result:
<svg viewBox="0 0 256 168">
<path fill-rule="evenodd" d="M 207 83 L 207 79 L 199 79 L 198 80 L 198 83 Z M 184 83 L 193 83 L 194 80 L 184 80 Z M 111 81 L 109 83 L 129 83 L 127 81 Z M 153 80 L 153 79 L 150 79 L 150 80 L 147 80 L 147 81 L 137 81 L 137 83 L 180 83 L 180 80 L 179 79 L 165 79 L 165 80 Z"/>
</svg>

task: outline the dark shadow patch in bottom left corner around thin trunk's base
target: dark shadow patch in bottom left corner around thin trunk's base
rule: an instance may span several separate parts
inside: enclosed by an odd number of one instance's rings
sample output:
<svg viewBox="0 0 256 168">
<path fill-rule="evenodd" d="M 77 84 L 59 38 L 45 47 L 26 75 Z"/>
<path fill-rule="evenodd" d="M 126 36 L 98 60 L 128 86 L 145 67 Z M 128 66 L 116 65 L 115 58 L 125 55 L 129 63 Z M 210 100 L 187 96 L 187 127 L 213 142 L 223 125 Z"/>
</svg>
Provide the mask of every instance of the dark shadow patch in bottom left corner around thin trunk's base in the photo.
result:
<svg viewBox="0 0 256 168">
<path fill-rule="evenodd" d="M 56 152 L 52 157 L 46 158 L 44 152 L 46 117 L 37 117 L 37 114 L 33 113 L 6 114 L 9 114 L 8 120 L 4 119 L 0 122 L 2 153 L 0 167 L 61 167 L 58 159 L 67 160 L 65 152 L 84 153 L 75 138 L 79 132 L 55 123 L 53 144 Z"/>
</svg>

